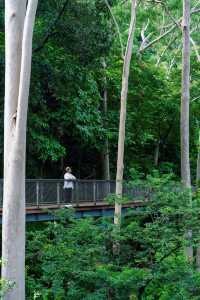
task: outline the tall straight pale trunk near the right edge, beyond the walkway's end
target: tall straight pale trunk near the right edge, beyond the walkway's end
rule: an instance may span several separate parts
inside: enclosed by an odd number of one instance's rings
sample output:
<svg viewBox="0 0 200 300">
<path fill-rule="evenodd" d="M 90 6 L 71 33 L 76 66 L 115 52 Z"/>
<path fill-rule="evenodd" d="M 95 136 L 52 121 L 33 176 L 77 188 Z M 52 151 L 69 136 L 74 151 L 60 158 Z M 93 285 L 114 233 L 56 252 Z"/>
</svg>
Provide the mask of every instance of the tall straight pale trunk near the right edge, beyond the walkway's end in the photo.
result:
<svg viewBox="0 0 200 300">
<path fill-rule="evenodd" d="M 183 0 L 183 51 L 182 51 L 182 97 L 181 97 L 181 179 L 184 188 L 191 188 L 189 152 L 189 109 L 190 109 L 190 0 Z M 188 197 L 192 203 L 191 193 Z M 188 241 L 192 231 L 186 232 Z M 189 262 L 193 261 L 193 247 L 185 249 Z"/>
</svg>

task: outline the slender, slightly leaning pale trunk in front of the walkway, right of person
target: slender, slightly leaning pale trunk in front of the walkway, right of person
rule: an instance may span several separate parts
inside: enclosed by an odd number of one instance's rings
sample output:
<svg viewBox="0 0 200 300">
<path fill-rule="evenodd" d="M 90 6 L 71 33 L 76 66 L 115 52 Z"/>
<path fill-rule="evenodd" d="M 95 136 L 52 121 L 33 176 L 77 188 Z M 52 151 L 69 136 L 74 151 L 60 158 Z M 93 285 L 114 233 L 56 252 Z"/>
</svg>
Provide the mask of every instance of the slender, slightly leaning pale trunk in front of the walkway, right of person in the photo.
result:
<svg viewBox="0 0 200 300">
<path fill-rule="evenodd" d="M 122 198 L 122 190 L 123 190 L 126 106 L 127 106 L 130 63 L 131 63 L 131 57 L 133 51 L 133 37 L 135 32 L 136 7 L 137 7 L 137 0 L 132 0 L 131 21 L 129 26 L 126 52 L 124 56 L 122 89 L 121 89 L 121 107 L 120 107 L 120 123 L 119 123 L 118 152 L 117 152 L 117 174 L 116 174 L 116 196 L 119 199 Z M 114 223 L 116 225 L 120 225 L 120 222 L 121 222 L 121 203 L 117 199 L 115 202 Z"/>
</svg>

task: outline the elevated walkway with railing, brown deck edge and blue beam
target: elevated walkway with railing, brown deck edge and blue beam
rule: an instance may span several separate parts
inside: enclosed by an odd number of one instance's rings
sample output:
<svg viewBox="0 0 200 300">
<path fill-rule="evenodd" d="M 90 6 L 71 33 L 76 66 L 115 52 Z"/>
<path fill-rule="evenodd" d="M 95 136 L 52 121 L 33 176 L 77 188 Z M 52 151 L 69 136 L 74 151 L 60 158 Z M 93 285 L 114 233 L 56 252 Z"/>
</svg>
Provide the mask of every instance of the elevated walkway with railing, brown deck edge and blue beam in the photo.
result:
<svg viewBox="0 0 200 300">
<path fill-rule="evenodd" d="M 76 180 L 71 195 L 71 202 L 77 217 L 113 216 L 114 205 L 109 204 L 109 197 L 115 193 L 115 181 L 105 180 Z M 28 222 L 48 221 L 55 217 L 51 213 L 58 209 L 66 209 L 68 203 L 63 189 L 64 180 L 60 179 L 27 179 L 26 180 L 26 219 Z M 133 187 L 124 183 L 123 195 L 128 208 L 141 209 L 142 199 L 149 196 L 149 190 Z M 3 202 L 3 180 L 0 181 L 0 205 Z M 2 208 L 0 208 L 0 215 Z M 1 218 L 0 218 L 1 222 Z"/>
</svg>

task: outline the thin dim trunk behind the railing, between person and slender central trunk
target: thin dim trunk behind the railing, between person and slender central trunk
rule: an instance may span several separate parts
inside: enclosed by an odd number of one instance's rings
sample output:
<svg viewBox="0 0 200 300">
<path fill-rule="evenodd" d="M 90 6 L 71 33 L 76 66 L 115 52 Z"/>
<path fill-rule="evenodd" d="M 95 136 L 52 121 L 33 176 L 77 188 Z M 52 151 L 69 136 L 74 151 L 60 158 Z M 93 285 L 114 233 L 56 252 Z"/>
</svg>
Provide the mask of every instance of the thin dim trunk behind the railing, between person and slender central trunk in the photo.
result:
<svg viewBox="0 0 200 300">
<path fill-rule="evenodd" d="M 106 61 L 105 59 L 102 60 L 102 65 L 104 70 L 106 70 Z M 106 75 L 104 76 L 104 90 L 103 90 L 103 111 L 105 119 L 107 118 L 108 114 L 108 91 L 107 91 L 107 78 Z M 107 129 L 107 121 L 105 122 L 105 128 Z M 110 154 L 109 154 L 109 142 L 108 137 L 106 136 L 104 142 L 104 149 L 103 149 L 103 179 L 110 180 Z"/>
</svg>

